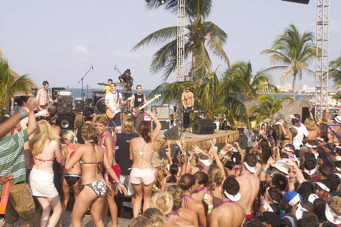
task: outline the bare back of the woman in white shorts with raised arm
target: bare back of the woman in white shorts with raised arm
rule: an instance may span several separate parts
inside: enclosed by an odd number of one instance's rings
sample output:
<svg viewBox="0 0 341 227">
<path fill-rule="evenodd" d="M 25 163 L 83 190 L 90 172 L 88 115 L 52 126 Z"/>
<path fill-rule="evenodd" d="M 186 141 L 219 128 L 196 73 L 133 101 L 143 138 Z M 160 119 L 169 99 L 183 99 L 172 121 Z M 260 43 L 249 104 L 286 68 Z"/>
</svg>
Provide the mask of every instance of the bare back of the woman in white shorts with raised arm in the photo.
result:
<svg viewBox="0 0 341 227">
<path fill-rule="evenodd" d="M 131 155 L 133 159 L 132 168 L 151 169 L 153 165 L 151 160 L 153 158 L 154 144 L 153 141 L 146 143 L 143 138 L 132 138 L 130 141 Z"/>
</svg>

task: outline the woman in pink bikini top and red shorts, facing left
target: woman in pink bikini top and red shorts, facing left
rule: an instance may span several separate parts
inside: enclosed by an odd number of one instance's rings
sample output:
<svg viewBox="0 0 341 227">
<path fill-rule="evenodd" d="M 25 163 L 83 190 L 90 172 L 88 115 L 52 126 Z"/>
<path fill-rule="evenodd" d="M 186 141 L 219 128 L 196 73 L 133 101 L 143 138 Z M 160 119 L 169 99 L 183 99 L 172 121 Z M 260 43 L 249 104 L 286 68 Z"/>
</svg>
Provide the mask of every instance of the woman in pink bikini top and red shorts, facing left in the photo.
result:
<svg viewBox="0 0 341 227">
<path fill-rule="evenodd" d="M 121 169 L 115 160 L 116 142 L 114 141 L 114 138 L 112 138 L 110 132 L 108 131 L 109 124 L 108 118 L 101 115 L 96 118 L 95 124 L 96 129 L 98 130 L 98 133 L 100 135 L 98 139 L 98 145 L 101 145 L 101 147 L 106 151 L 110 162 L 110 166 L 112 167 L 112 170 L 115 171 L 115 174 L 118 177 L 118 179 L 120 179 Z M 114 179 L 108 176 L 108 172 L 105 171 L 104 168 L 102 169 L 102 175 L 104 176 L 105 181 L 111 183 L 111 187 L 107 188 L 106 199 L 104 202 L 103 222 L 104 224 L 108 224 L 109 207 L 112 226 L 117 226 L 117 205 L 114 200 L 116 185 L 114 183 Z"/>
</svg>

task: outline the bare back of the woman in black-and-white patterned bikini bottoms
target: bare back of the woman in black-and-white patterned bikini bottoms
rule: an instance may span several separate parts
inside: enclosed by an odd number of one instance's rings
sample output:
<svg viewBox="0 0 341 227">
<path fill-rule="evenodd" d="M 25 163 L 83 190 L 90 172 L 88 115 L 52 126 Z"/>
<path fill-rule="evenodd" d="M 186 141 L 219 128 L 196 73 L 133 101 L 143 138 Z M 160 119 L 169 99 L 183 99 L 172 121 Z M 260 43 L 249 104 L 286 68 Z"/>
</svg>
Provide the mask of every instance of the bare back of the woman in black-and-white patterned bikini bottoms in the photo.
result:
<svg viewBox="0 0 341 227">
<path fill-rule="evenodd" d="M 86 143 L 79 145 L 77 149 L 83 152 L 81 161 L 79 161 L 82 167 L 82 185 L 102 180 L 101 167 L 105 152 L 103 148 L 98 145 Z"/>
</svg>

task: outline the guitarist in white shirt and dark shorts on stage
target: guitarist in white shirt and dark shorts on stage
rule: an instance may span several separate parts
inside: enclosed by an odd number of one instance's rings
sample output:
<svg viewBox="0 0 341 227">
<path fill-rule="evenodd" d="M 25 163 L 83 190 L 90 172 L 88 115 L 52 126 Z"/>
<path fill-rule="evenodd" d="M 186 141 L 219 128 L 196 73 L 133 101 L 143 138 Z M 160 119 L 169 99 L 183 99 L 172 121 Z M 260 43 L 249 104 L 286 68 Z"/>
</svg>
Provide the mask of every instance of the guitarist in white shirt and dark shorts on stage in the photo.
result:
<svg viewBox="0 0 341 227">
<path fill-rule="evenodd" d="M 115 126 L 118 133 L 122 132 L 120 105 L 124 105 L 125 103 L 126 102 L 122 99 L 121 93 L 116 91 L 116 84 L 110 84 L 110 92 L 105 95 L 104 104 L 107 108 L 111 110 L 112 113 L 117 112 L 115 114 L 115 117 L 108 117 L 108 127 L 112 129 Z"/>
</svg>

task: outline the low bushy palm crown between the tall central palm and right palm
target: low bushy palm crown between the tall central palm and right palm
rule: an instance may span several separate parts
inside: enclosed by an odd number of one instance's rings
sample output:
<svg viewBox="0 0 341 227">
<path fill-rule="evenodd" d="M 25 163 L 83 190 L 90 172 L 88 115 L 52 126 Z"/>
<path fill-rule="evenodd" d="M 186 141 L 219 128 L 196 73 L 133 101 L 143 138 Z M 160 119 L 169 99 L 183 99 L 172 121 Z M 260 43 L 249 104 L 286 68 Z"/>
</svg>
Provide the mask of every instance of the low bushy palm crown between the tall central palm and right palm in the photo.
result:
<svg viewBox="0 0 341 227">
<path fill-rule="evenodd" d="M 239 86 L 247 98 L 257 98 L 259 93 L 279 93 L 276 86 L 271 84 L 271 74 L 266 70 L 259 70 L 254 74 L 250 60 L 238 61 L 231 69 L 224 73 L 225 78 Z"/>
</svg>

